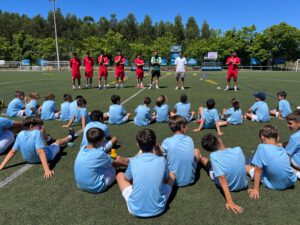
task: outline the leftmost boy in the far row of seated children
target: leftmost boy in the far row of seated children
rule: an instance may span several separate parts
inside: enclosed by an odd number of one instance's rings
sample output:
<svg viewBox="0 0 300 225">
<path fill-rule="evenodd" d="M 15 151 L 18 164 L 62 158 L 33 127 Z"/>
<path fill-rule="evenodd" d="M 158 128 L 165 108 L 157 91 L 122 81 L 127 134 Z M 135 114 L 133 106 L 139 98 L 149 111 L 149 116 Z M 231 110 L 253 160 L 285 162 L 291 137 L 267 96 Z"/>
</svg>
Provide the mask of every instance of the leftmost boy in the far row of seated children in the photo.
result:
<svg viewBox="0 0 300 225">
<path fill-rule="evenodd" d="M 23 91 L 16 91 L 15 98 L 8 104 L 6 114 L 10 117 L 22 117 L 25 115 L 24 105 L 25 94 Z"/>
</svg>

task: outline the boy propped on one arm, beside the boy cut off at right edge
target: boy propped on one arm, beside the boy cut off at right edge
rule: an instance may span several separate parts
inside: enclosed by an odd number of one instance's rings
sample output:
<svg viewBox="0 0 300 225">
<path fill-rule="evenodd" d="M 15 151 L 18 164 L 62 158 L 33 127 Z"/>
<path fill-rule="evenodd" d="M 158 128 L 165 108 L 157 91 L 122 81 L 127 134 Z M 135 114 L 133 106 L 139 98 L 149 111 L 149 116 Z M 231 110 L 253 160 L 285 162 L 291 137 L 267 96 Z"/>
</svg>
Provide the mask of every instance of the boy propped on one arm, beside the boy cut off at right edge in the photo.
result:
<svg viewBox="0 0 300 225">
<path fill-rule="evenodd" d="M 255 167 L 246 166 L 247 172 L 254 179 L 254 187 L 248 191 L 253 199 L 259 198 L 260 183 L 272 190 L 284 190 L 293 187 L 297 181 L 296 171 L 290 165 L 289 156 L 278 144 L 277 128 L 265 125 L 259 131 L 259 136 L 262 144 L 258 145 L 252 159 Z"/>
</svg>

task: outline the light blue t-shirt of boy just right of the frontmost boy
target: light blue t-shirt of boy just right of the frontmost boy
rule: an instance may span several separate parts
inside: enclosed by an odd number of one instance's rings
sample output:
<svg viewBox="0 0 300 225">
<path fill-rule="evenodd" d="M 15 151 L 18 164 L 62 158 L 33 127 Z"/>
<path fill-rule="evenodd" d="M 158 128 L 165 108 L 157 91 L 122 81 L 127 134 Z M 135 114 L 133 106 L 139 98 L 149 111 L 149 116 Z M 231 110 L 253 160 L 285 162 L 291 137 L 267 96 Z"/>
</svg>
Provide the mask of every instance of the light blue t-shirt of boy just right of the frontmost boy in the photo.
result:
<svg viewBox="0 0 300 225">
<path fill-rule="evenodd" d="M 184 134 L 175 134 L 163 141 L 162 148 L 167 156 L 168 169 L 176 176 L 176 184 L 182 187 L 194 182 L 196 167 L 193 139 Z"/>
</svg>

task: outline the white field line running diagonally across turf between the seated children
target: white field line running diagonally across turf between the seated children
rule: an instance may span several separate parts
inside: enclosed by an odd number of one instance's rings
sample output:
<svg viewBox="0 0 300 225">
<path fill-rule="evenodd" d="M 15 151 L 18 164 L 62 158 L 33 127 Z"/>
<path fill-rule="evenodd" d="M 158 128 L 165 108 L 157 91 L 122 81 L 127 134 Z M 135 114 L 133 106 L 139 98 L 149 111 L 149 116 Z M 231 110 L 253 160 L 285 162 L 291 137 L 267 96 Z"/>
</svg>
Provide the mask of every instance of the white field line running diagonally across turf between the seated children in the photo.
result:
<svg viewBox="0 0 300 225">
<path fill-rule="evenodd" d="M 167 76 L 165 76 L 167 77 Z M 161 78 L 164 79 L 165 77 Z M 161 80 L 160 79 L 160 80 Z M 0 83 L 1 84 L 1 83 Z M 126 104 L 127 102 L 129 102 L 130 100 L 132 100 L 133 98 L 135 98 L 137 95 L 139 95 L 140 93 L 142 93 L 144 90 L 146 90 L 147 88 L 143 88 L 139 91 L 137 91 L 136 93 L 134 93 L 132 96 L 130 96 L 129 98 L 125 99 L 122 102 L 122 105 Z M 75 133 L 76 136 L 79 136 L 80 134 L 83 133 L 83 129 L 80 129 L 79 131 L 77 131 Z M 18 178 L 19 176 L 21 176 L 23 173 L 25 173 L 27 170 L 29 170 L 31 167 L 33 167 L 32 164 L 26 164 L 25 166 L 21 167 L 20 169 L 18 169 L 16 172 L 14 172 L 13 174 L 11 174 L 10 176 L 8 176 L 7 178 L 5 178 L 3 181 L 0 181 L 0 188 L 3 188 L 4 186 L 6 186 L 7 184 L 9 184 L 10 182 L 12 182 L 13 180 L 15 180 L 16 178 Z"/>
</svg>

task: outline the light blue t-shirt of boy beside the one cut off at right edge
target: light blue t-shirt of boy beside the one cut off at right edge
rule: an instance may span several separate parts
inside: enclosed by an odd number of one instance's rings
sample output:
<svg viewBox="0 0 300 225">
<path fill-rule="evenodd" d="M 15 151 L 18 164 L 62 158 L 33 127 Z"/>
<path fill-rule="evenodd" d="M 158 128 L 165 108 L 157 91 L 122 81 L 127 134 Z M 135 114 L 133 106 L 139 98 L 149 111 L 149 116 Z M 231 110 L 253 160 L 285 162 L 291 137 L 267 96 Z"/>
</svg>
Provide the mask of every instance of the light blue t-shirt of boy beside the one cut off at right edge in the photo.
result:
<svg viewBox="0 0 300 225">
<path fill-rule="evenodd" d="M 267 188 L 284 190 L 297 181 L 289 156 L 283 147 L 258 145 L 252 164 L 262 168 L 262 181 Z"/>
</svg>

